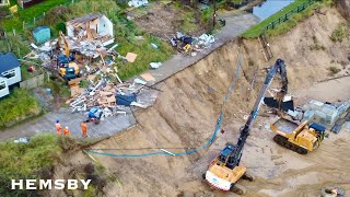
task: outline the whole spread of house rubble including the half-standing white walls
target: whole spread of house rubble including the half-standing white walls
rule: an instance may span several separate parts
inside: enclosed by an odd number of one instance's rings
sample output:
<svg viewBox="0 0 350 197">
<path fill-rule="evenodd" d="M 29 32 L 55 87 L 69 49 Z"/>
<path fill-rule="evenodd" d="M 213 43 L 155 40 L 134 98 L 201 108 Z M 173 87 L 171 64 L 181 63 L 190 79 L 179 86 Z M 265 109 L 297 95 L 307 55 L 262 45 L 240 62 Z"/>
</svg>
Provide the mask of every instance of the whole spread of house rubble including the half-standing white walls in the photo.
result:
<svg viewBox="0 0 350 197">
<path fill-rule="evenodd" d="M 103 119 L 131 113 L 130 106 L 147 108 L 158 97 L 158 91 L 147 86 L 147 81 L 136 79 L 131 83 L 122 82 L 118 77 L 116 58 L 122 62 L 133 62 L 137 54 L 128 53 L 124 57 L 115 49 L 117 44 L 106 47 L 114 43 L 113 24 L 109 23 L 102 14 L 74 19 L 66 23 L 67 36 L 61 34 L 43 46 L 32 44 L 33 50 L 25 56 L 40 59 L 44 68 L 58 73 L 55 77 L 62 77 L 62 68 L 77 68 L 77 76 L 65 78 L 71 90 L 71 99 L 66 102 L 71 113 L 80 112 L 88 117 L 91 109 L 97 108 Z"/>
</svg>

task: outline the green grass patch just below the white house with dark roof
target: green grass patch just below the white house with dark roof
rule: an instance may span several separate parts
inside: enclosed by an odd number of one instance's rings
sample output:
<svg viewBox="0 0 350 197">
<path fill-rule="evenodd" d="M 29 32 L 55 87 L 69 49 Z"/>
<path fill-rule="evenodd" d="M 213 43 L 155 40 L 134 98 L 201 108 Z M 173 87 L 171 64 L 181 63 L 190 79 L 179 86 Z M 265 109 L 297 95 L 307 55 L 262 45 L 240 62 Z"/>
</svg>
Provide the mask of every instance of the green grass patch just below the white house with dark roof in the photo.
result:
<svg viewBox="0 0 350 197">
<path fill-rule="evenodd" d="M 0 128 L 40 113 L 38 102 L 24 89 L 14 89 L 0 101 Z"/>
</svg>

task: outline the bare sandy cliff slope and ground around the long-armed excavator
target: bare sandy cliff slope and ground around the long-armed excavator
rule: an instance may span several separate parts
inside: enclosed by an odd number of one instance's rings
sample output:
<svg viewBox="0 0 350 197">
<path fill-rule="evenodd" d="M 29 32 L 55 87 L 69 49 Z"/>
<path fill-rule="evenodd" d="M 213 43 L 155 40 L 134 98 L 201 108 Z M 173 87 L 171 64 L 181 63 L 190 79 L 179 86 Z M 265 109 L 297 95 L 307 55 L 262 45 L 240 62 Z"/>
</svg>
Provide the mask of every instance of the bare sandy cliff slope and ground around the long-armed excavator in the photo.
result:
<svg viewBox="0 0 350 197">
<path fill-rule="evenodd" d="M 334 43 L 329 35 L 346 20 L 335 9 L 322 10 L 285 35 L 273 37 L 270 47 L 276 56 L 265 61 L 259 40 L 232 40 L 194 66 L 161 81 L 162 92 L 156 104 L 136 112 L 138 125 L 103 140 L 90 149 L 105 153 L 136 154 L 164 149 L 184 152 L 206 143 L 211 137 L 220 111 L 224 107 L 222 128 L 206 150 L 186 157 L 156 155 L 145 158 L 114 158 L 91 154 L 117 181 L 103 189 L 105 196 L 235 196 L 212 190 L 201 174 L 226 142 L 236 142 L 238 129 L 245 123 L 265 78 L 265 68 L 277 58 L 287 63 L 289 90 L 295 103 L 310 100 L 339 102 L 350 99 L 349 77 L 319 82 L 346 73 L 350 68 L 350 40 Z M 315 40 L 324 49 L 312 49 Z M 242 51 L 242 70 L 230 101 L 222 101 L 232 83 Z M 183 59 L 184 60 L 184 59 Z M 185 60 L 187 61 L 187 60 Z M 185 62 L 184 62 L 185 63 Z M 329 67 L 341 69 L 330 76 Z M 256 79 L 254 78 L 254 73 Z M 277 84 L 277 83 L 276 83 Z M 254 86 L 252 89 L 252 86 Z M 272 83 L 271 88 L 276 88 Z M 246 196 L 319 196 L 320 188 L 337 185 L 350 194 L 350 132 L 330 134 L 322 147 L 300 155 L 277 146 L 269 124 L 277 118 L 261 112 L 244 149 L 242 164 L 256 181 L 241 182 Z M 70 177 L 74 169 L 94 162 L 82 151 L 71 153 L 63 164 L 58 163 L 55 177 Z M 62 195 L 54 190 L 54 196 Z"/>
</svg>

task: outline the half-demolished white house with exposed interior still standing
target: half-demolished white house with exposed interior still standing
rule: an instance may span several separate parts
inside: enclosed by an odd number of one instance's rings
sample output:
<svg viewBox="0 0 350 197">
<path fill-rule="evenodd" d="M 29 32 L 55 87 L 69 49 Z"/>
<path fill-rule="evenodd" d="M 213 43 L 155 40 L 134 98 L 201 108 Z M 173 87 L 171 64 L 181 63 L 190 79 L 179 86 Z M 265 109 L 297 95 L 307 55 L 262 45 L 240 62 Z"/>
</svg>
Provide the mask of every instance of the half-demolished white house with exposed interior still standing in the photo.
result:
<svg viewBox="0 0 350 197">
<path fill-rule="evenodd" d="M 66 23 L 67 36 L 80 40 L 100 40 L 103 46 L 114 43 L 113 23 L 101 13 L 88 14 Z"/>
</svg>

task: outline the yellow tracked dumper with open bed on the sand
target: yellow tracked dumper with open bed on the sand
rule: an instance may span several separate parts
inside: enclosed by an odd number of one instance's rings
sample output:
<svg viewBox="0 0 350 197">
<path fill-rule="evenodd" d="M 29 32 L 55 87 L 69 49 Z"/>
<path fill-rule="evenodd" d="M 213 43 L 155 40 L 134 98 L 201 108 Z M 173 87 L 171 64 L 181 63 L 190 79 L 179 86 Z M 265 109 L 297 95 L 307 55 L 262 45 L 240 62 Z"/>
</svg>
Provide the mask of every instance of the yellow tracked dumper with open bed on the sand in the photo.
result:
<svg viewBox="0 0 350 197">
<path fill-rule="evenodd" d="M 327 137 L 324 126 L 307 120 L 298 125 L 295 121 L 280 118 L 270 125 L 270 129 L 276 132 L 273 137 L 276 143 L 300 154 L 317 149 Z"/>
</svg>

